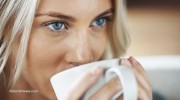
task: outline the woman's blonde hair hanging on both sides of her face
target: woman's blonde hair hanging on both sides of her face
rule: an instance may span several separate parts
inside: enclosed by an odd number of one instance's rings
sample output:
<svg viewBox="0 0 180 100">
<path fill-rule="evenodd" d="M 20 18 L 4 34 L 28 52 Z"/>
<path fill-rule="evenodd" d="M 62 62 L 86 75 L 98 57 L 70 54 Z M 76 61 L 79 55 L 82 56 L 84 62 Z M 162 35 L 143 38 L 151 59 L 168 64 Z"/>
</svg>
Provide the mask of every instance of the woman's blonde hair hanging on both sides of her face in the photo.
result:
<svg viewBox="0 0 180 100">
<path fill-rule="evenodd" d="M 9 73 L 10 78 L 6 80 L 8 83 L 15 83 L 26 60 L 28 40 L 38 4 L 38 0 L 0 1 L 0 78 L 4 76 L 6 79 Z M 114 4 L 112 35 L 103 59 L 120 57 L 129 43 L 123 0 L 115 0 Z M 14 49 L 18 50 L 17 54 L 13 54 Z M 11 59 L 11 54 L 16 55 L 16 58 Z M 8 62 L 13 63 L 13 66 L 8 68 Z"/>
</svg>

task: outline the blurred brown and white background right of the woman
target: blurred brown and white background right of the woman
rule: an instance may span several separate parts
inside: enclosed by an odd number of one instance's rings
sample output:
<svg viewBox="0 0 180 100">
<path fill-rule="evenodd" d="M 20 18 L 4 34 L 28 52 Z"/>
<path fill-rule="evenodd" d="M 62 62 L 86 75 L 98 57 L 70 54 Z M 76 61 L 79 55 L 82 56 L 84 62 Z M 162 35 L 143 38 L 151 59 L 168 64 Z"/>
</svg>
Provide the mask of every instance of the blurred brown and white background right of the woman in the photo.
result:
<svg viewBox="0 0 180 100">
<path fill-rule="evenodd" d="M 154 100 L 180 100 L 180 0 L 127 0 L 127 56 L 143 65 Z"/>
</svg>

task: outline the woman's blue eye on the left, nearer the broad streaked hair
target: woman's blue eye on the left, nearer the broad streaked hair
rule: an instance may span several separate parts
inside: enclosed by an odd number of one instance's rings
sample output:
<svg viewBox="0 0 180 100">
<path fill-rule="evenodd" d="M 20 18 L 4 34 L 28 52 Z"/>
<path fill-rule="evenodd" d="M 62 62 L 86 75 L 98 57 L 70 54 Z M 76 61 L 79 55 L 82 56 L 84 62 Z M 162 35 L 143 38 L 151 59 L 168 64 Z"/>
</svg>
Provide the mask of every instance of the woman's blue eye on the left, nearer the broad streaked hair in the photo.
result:
<svg viewBox="0 0 180 100">
<path fill-rule="evenodd" d="M 63 22 L 51 22 L 46 26 L 53 31 L 61 31 L 65 28 L 65 24 Z"/>
</svg>

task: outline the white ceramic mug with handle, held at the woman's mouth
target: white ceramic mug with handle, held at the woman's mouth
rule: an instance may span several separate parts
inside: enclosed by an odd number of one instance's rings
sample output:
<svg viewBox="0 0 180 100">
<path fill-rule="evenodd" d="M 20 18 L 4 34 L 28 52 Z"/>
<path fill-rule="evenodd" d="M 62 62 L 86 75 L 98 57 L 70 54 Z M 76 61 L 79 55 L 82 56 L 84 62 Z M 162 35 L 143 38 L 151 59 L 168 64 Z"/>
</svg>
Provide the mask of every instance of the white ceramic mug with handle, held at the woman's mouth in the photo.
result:
<svg viewBox="0 0 180 100">
<path fill-rule="evenodd" d="M 105 69 L 105 75 L 92 86 L 82 97 L 82 100 L 88 98 L 105 85 L 113 77 L 118 76 L 122 85 L 122 90 L 113 96 L 112 100 L 116 99 L 123 93 L 123 100 L 137 100 L 137 82 L 135 75 L 131 68 L 120 66 L 119 59 L 97 61 L 89 64 L 80 65 L 54 75 L 50 81 L 58 100 L 63 100 L 64 93 L 68 90 L 69 86 L 75 82 L 82 73 L 93 67 L 102 67 Z"/>
</svg>

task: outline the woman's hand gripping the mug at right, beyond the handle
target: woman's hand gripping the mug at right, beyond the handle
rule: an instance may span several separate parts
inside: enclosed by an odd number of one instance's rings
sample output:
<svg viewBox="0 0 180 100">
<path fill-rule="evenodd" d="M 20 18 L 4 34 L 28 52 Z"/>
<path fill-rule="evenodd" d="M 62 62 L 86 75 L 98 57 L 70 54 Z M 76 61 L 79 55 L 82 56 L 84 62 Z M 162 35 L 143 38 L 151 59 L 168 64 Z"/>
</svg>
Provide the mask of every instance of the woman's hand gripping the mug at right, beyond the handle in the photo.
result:
<svg viewBox="0 0 180 100">
<path fill-rule="evenodd" d="M 121 59 L 120 65 L 133 69 L 138 85 L 138 100 L 152 100 L 152 86 L 141 64 L 134 57 L 129 57 Z"/>
</svg>

